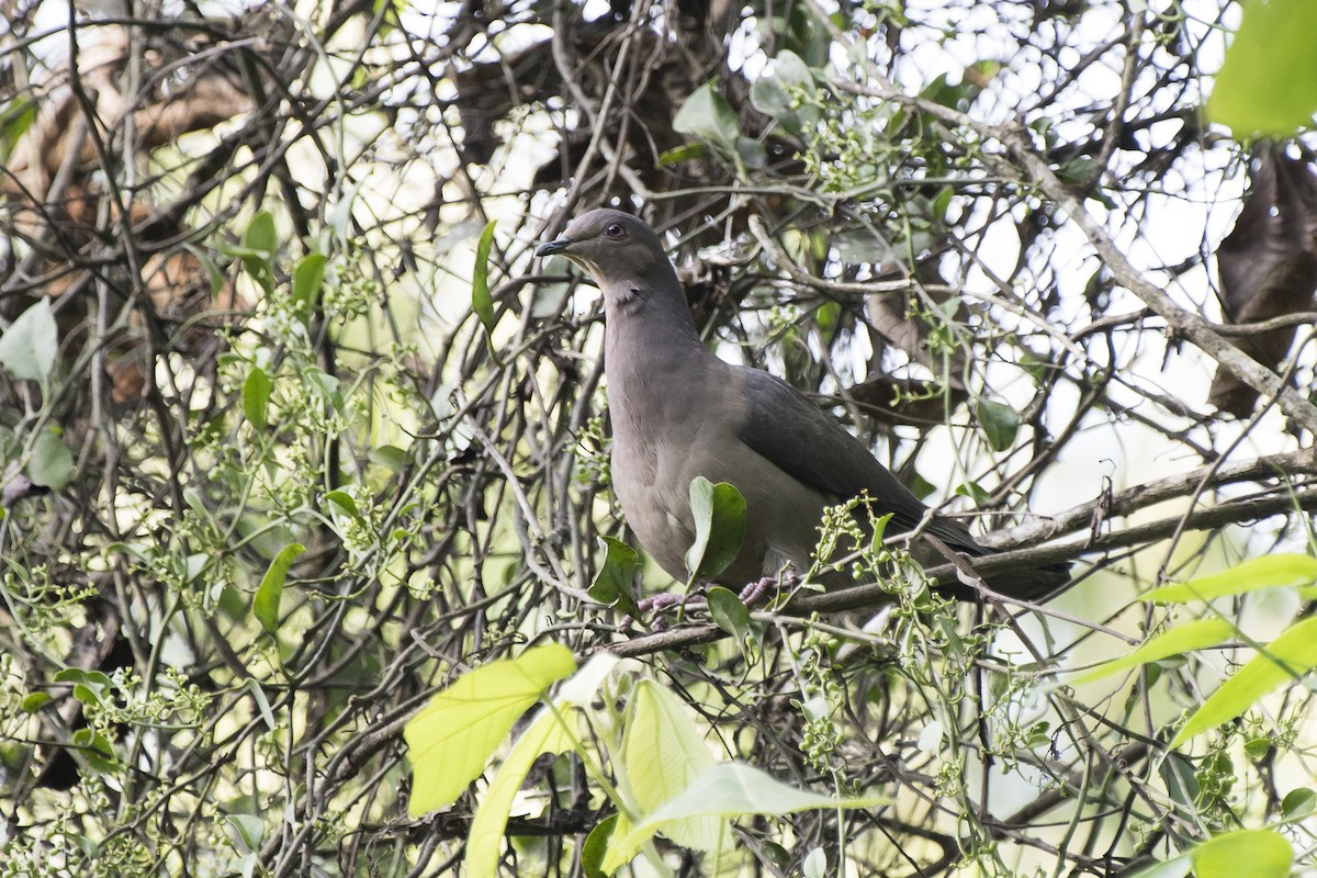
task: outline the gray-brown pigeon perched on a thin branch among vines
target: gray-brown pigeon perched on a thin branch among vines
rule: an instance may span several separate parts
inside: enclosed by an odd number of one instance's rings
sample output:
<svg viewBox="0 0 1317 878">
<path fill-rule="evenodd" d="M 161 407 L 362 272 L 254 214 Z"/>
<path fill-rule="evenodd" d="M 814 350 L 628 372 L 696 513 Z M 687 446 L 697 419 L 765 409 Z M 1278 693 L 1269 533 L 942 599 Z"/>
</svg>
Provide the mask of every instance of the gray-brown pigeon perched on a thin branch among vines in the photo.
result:
<svg viewBox="0 0 1317 878">
<path fill-rule="evenodd" d="M 727 584 L 776 575 L 788 563 L 809 570 L 823 508 L 865 491 L 874 516 L 892 513 L 886 534 L 922 524 L 956 552 L 986 553 L 959 523 L 927 517 L 864 442 L 799 391 L 715 357 L 648 225 L 620 211 L 590 211 L 536 250 L 552 254 L 581 266 L 603 292 L 612 484 L 641 546 L 674 579 L 686 579 L 697 475 L 735 484 L 745 498 L 744 544 L 718 577 Z M 988 584 L 1038 599 L 1065 584 L 1067 571 L 1065 565 L 1011 571 Z M 976 595 L 959 583 L 946 588 L 963 599 Z"/>
</svg>

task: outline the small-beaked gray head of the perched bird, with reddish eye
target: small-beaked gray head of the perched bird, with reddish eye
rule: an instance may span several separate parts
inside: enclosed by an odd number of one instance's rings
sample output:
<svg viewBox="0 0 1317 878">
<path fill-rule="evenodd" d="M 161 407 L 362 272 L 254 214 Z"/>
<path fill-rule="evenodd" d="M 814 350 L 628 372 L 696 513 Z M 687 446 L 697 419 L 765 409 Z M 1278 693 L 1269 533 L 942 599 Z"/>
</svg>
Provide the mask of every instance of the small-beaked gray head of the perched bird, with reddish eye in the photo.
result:
<svg viewBox="0 0 1317 878">
<path fill-rule="evenodd" d="M 582 213 L 562 230 L 562 237 L 535 250 L 537 257 L 556 253 L 585 269 L 602 288 L 672 271 L 658 236 L 630 213 L 608 208 Z"/>
</svg>

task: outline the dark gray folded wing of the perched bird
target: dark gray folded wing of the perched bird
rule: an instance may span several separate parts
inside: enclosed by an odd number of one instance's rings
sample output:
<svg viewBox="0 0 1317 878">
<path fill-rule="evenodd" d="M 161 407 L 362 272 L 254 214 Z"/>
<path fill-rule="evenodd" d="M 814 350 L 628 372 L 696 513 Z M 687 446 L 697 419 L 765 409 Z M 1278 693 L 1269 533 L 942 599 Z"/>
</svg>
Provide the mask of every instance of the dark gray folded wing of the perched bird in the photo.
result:
<svg viewBox="0 0 1317 878">
<path fill-rule="evenodd" d="M 910 530 L 927 508 L 864 442 L 790 384 L 757 369 L 744 378 L 745 419 L 740 438 L 757 454 L 815 490 L 848 500 L 868 491 L 878 515 L 892 513 L 892 532 Z M 954 521 L 934 519 L 927 530 L 956 549 L 979 546 Z"/>
</svg>

